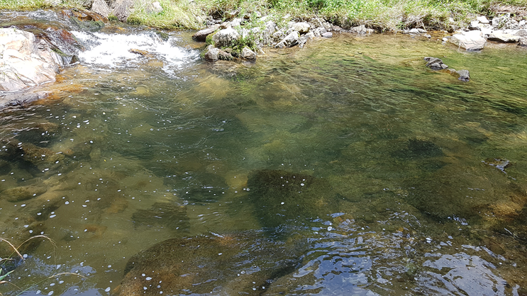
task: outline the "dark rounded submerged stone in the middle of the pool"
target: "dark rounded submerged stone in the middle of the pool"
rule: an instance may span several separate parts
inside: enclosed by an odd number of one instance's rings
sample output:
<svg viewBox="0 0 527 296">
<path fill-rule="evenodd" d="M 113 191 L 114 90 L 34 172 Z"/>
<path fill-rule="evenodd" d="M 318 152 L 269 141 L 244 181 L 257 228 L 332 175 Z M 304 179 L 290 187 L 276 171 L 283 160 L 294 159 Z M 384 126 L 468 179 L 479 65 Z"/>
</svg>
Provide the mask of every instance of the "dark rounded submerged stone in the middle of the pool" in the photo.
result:
<svg viewBox="0 0 527 296">
<path fill-rule="evenodd" d="M 306 224 L 334 210 L 332 202 L 336 193 L 323 178 L 261 170 L 250 174 L 248 188 L 248 199 L 264 227 Z"/>
</svg>

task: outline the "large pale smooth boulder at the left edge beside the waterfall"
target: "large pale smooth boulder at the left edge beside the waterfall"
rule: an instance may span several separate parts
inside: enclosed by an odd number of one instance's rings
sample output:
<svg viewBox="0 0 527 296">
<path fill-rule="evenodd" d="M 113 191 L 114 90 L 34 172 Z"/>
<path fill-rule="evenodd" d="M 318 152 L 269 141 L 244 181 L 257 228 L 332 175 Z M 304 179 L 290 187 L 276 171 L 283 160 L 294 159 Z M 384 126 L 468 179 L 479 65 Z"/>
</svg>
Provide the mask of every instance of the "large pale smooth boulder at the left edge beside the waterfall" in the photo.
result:
<svg viewBox="0 0 527 296">
<path fill-rule="evenodd" d="M 33 33 L 0 28 L 0 91 L 19 91 L 55 81 L 64 62 Z"/>
</svg>

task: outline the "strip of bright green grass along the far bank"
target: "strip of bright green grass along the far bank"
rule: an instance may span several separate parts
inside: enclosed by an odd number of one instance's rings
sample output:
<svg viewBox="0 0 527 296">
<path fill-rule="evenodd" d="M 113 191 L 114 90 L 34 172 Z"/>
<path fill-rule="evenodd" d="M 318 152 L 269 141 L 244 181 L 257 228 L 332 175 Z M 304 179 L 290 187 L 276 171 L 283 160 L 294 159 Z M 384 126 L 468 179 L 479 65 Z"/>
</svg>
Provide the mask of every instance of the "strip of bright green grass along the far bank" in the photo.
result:
<svg viewBox="0 0 527 296">
<path fill-rule="evenodd" d="M 231 18 L 255 13 L 272 15 L 279 21 L 284 16 L 293 19 L 322 16 L 336 25 L 349 28 L 365 24 L 377 30 L 399 28 L 458 28 L 466 25 L 477 13 L 492 14 L 494 5 L 514 5 L 525 8 L 527 0 L 159 0 L 161 13 L 148 10 L 150 1 L 135 0 L 135 9 L 128 23 L 155 28 L 203 28 L 207 16 Z M 62 0 L 62 6 L 80 6 L 80 0 Z M 0 8 L 45 8 L 46 0 L 0 0 Z M 525 10 L 524 10 L 525 11 Z"/>
</svg>

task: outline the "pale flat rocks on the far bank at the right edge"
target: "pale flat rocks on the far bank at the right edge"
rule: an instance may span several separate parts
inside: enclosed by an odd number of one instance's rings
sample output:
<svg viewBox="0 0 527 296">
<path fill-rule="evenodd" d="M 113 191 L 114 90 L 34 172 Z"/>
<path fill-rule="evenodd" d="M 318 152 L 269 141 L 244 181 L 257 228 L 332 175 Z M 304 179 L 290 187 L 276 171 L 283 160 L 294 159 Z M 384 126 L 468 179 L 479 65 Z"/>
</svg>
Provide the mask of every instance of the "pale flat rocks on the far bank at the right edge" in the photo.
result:
<svg viewBox="0 0 527 296">
<path fill-rule="evenodd" d="M 482 50 L 487 40 L 494 42 L 527 45 L 527 22 L 516 21 L 509 14 L 494 17 L 489 21 L 479 16 L 470 23 L 467 30 L 456 32 L 451 38 L 444 38 L 465 50 Z"/>
</svg>

